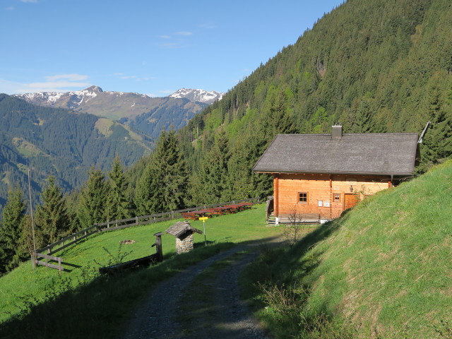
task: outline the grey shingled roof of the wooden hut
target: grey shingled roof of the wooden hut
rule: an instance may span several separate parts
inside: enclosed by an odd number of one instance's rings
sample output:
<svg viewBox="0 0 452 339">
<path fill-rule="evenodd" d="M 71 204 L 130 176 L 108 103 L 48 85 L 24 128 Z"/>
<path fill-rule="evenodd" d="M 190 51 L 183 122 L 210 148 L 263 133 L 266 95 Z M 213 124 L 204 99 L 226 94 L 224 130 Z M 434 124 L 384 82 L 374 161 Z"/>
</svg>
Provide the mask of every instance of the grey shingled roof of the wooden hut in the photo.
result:
<svg viewBox="0 0 452 339">
<path fill-rule="evenodd" d="M 417 133 L 278 134 L 254 172 L 410 175 Z"/>
</svg>

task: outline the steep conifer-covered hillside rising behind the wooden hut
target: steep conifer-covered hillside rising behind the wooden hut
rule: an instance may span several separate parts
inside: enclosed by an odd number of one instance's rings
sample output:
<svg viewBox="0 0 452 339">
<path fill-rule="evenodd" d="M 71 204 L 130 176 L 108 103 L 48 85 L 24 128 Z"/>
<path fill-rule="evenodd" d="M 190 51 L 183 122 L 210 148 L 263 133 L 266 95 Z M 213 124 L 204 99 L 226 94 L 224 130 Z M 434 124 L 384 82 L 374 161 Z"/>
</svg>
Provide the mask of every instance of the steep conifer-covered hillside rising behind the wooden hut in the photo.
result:
<svg viewBox="0 0 452 339">
<path fill-rule="evenodd" d="M 270 194 L 251 172 L 277 133 L 417 132 L 422 172 L 452 153 L 448 0 L 349 0 L 179 131 L 195 203 Z M 321 155 L 319 155 L 321 156 Z"/>
</svg>

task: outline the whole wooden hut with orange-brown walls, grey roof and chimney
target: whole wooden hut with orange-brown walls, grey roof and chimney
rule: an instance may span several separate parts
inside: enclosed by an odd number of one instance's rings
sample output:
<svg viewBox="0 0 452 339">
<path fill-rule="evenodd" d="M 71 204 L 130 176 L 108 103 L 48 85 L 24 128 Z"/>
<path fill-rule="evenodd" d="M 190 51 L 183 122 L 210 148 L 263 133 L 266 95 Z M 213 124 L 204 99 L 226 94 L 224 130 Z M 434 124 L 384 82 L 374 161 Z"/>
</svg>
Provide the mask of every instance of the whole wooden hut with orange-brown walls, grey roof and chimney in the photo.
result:
<svg viewBox="0 0 452 339">
<path fill-rule="evenodd" d="M 331 220 L 366 196 L 412 177 L 417 133 L 279 134 L 253 170 L 273 175 L 275 223 L 294 210 L 306 220 Z M 303 217 L 304 216 L 304 217 Z"/>
</svg>

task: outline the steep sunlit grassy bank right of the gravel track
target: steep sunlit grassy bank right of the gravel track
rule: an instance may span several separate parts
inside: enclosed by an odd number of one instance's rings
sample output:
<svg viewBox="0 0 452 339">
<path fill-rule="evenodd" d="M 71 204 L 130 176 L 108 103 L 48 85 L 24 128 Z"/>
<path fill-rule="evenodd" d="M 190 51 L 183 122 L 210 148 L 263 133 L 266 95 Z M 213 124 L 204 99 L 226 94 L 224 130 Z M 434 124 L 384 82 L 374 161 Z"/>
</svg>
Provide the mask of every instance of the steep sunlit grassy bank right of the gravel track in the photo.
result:
<svg viewBox="0 0 452 339">
<path fill-rule="evenodd" d="M 451 338 L 451 203 L 449 161 L 262 257 L 260 316 L 278 338 Z"/>
</svg>

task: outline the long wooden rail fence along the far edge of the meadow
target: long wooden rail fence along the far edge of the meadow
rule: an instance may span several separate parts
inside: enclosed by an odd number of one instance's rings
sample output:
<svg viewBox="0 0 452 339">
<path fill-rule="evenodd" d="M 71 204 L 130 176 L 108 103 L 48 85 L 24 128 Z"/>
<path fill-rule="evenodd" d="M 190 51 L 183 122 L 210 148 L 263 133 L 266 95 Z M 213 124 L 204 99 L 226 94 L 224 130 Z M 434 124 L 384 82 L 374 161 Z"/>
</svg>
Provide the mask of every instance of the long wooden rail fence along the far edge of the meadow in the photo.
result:
<svg viewBox="0 0 452 339">
<path fill-rule="evenodd" d="M 81 240 L 83 240 L 87 237 L 90 237 L 90 235 L 93 235 L 98 232 L 120 230 L 121 228 L 125 228 L 125 227 L 146 225 L 146 224 L 150 224 L 151 222 L 160 222 L 160 221 L 165 221 L 165 220 L 182 218 L 182 213 L 191 212 L 192 210 L 213 208 L 213 207 L 218 207 L 218 206 L 243 203 L 246 201 L 256 201 L 256 203 L 260 203 L 260 198 L 256 197 L 256 198 L 249 198 L 249 199 L 242 199 L 242 200 L 227 201 L 226 203 L 214 203 L 211 205 L 203 205 L 203 206 L 196 206 L 193 208 L 186 208 L 184 210 L 169 210 L 168 212 L 156 213 L 156 214 L 151 214 L 151 215 L 143 215 L 141 217 L 101 222 L 99 224 L 95 224 L 93 226 L 87 227 L 84 230 L 71 234 L 68 237 L 65 237 L 65 238 L 59 240 L 58 242 L 49 244 L 48 246 L 45 246 L 42 249 L 38 249 L 35 253 L 35 257 L 37 257 L 37 256 L 43 257 L 43 254 L 45 252 L 47 252 L 47 254 L 45 254 L 46 256 L 50 256 L 50 254 L 54 254 L 58 251 L 61 251 L 62 249 L 66 249 L 66 247 L 76 244 L 76 243 L 80 242 Z M 58 257 L 52 257 L 50 259 L 55 260 L 53 258 L 58 258 Z M 35 267 L 35 260 L 36 259 L 34 259 L 32 256 L 33 267 Z M 62 262 L 62 258 L 61 258 L 61 262 Z M 40 263 L 40 265 L 41 265 L 41 263 Z M 56 265 L 53 265 L 53 266 L 49 266 L 49 265 L 51 265 L 51 264 L 47 263 L 47 265 L 45 265 L 45 266 L 57 268 L 57 267 L 53 267 Z"/>
</svg>

